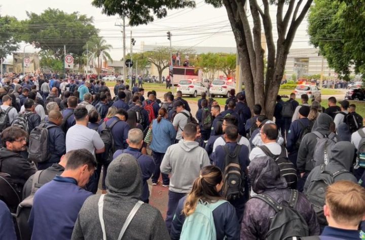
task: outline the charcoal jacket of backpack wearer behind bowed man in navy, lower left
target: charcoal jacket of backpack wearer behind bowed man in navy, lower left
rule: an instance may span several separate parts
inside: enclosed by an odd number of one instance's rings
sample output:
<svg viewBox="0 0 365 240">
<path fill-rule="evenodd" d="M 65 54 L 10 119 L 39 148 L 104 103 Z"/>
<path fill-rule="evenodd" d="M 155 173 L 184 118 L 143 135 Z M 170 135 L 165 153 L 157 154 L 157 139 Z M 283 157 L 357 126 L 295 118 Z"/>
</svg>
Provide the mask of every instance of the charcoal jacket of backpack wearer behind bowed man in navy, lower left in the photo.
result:
<svg viewBox="0 0 365 240">
<path fill-rule="evenodd" d="M 51 167 L 49 167 L 45 170 L 42 170 L 38 183 L 44 185 L 47 182 L 50 182 L 56 175 L 61 175 L 61 173 L 63 171 L 64 171 L 64 167 L 62 167 L 58 163 L 54 163 Z M 23 199 L 25 199 L 26 197 L 28 197 L 31 194 L 31 186 L 33 183 L 33 177 L 34 177 L 34 175 L 31 175 L 24 184 Z"/>
</svg>

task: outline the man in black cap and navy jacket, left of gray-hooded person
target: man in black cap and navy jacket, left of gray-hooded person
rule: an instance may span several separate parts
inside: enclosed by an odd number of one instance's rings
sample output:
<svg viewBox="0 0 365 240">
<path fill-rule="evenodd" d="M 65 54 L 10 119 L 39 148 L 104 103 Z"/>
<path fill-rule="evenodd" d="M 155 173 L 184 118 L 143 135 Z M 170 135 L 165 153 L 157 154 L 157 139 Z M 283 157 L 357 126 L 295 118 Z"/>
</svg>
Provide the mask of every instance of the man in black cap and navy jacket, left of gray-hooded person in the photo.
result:
<svg viewBox="0 0 365 240">
<path fill-rule="evenodd" d="M 302 106 L 299 109 L 299 119 L 290 124 L 289 131 L 286 135 L 286 149 L 288 151 L 288 159 L 297 165 L 297 157 L 299 146 L 297 141 L 299 138 L 303 138 L 302 132 L 313 123 L 308 119 L 310 107 Z"/>
</svg>

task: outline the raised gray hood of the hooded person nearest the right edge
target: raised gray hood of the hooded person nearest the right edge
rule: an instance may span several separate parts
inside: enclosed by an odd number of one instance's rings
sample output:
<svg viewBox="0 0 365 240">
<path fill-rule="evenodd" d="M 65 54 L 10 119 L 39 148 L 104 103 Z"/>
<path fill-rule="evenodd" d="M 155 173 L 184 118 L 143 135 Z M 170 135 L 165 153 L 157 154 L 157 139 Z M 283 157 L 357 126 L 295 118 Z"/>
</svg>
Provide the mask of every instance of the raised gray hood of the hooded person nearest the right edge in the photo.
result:
<svg viewBox="0 0 365 240">
<path fill-rule="evenodd" d="M 341 165 L 343 169 L 350 171 L 354 155 L 355 147 L 351 142 L 339 141 L 332 146 L 329 165 Z"/>
</svg>

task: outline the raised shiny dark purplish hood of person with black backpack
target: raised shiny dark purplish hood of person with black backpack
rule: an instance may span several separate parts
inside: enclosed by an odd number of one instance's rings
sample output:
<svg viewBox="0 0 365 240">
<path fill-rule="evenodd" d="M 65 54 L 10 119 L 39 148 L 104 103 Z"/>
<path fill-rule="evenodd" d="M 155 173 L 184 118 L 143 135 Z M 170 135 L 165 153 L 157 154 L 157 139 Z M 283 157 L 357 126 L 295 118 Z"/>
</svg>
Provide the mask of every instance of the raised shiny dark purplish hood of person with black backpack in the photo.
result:
<svg viewBox="0 0 365 240">
<path fill-rule="evenodd" d="M 248 176 L 251 179 L 252 190 L 257 194 L 287 188 L 285 178 L 280 176 L 279 166 L 268 156 L 253 159 L 248 166 Z"/>
</svg>

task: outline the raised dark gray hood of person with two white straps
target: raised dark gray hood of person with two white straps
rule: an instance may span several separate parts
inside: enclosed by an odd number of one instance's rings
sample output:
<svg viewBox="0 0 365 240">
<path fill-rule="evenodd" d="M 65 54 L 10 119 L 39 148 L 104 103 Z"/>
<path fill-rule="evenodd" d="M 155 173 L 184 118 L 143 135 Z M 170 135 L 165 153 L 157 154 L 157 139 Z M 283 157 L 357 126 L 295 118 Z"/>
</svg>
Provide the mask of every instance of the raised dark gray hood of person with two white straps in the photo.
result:
<svg viewBox="0 0 365 240">
<path fill-rule="evenodd" d="M 140 200 L 142 174 L 137 159 L 130 154 L 121 154 L 108 166 L 105 185 L 107 196 Z"/>
</svg>

